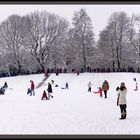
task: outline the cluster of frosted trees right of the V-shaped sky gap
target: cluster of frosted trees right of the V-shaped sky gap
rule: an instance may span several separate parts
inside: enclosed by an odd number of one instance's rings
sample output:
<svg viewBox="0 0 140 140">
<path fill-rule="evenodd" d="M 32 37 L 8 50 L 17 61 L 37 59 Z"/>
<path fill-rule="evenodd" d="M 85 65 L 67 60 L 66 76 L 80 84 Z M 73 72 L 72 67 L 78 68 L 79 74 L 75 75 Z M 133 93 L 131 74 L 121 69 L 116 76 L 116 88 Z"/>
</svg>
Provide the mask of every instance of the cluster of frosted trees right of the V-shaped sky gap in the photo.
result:
<svg viewBox="0 0 140 140">
<path fill-rule="evenodd" d="M 98 48 L 106 65 L 113 71 L 140 66 L 140 16 L 129 17 L 125 12 L 114 12 L 106 28 L 100 32 Z M 105 63 L 103 63 L 105 64 Z"/>
</svg>

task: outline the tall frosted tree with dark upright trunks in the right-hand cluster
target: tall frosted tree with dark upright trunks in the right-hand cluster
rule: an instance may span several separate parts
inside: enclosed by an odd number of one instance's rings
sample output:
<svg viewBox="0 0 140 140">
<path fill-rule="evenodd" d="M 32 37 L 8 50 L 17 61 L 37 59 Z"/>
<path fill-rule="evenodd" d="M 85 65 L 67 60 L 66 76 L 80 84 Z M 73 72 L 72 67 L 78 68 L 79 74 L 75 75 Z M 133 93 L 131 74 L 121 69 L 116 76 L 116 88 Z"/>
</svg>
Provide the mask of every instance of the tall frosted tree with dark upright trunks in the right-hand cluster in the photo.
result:
<svg viewBox="0 0 140 140">
<path fill-rule="evenodd" d="M 128 31 L 130 27 L 130 18 L 125 12 L 115 12 L 109 18 L 109 27 L 111 27 L 111 45 L 116 54 L 117 69 L 122 67 L 123 51 L 125 51 L 128 41 Z M 112 52 L 113 52 L 112 51 Z M 114 56 L 114 55 L 113 55 Z"/>
</svg>

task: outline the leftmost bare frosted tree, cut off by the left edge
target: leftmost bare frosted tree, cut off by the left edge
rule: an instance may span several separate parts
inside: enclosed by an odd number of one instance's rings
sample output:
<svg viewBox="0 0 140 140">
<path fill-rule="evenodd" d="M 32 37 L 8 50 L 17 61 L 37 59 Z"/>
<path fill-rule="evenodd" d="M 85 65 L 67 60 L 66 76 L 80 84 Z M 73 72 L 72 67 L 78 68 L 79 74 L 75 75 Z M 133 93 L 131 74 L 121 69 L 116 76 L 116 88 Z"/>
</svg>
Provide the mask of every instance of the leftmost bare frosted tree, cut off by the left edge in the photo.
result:
<svg viewBox="0 0 140 140">
<path fill-rule="evenodd" d="M 22 18 L 18 15 L 11 15 L 0 24 L 1 53 L 10 55 L 9 61 L 13 61 L 18 74 L 21 73 L 22 57 L 24 55 L 22 53 L 22 50 L 24 50 L 24 33 Z"/>
</svg>

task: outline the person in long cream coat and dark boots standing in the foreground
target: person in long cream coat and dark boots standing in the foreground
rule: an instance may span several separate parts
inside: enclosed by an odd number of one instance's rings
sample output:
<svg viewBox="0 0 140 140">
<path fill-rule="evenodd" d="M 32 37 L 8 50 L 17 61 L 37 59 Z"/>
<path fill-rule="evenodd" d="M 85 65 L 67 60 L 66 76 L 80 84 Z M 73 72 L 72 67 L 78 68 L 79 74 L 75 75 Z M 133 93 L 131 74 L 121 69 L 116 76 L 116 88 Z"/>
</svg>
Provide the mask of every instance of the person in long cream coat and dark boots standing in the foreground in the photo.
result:
<svg viewBox="0 0 140 140">
<path fill-rule="evenodd" d="M 120 119 L 126 119 L 127 115 L 127 105 L 126 105 L 126 94 L 127 94 L 127 88 L 125 87 L 125 83 L 122 82 L 120 88 L 117 91 L 118 93 L 118 105 L 120 106 L 121 110 L 121 118 Z"/>
</svg>

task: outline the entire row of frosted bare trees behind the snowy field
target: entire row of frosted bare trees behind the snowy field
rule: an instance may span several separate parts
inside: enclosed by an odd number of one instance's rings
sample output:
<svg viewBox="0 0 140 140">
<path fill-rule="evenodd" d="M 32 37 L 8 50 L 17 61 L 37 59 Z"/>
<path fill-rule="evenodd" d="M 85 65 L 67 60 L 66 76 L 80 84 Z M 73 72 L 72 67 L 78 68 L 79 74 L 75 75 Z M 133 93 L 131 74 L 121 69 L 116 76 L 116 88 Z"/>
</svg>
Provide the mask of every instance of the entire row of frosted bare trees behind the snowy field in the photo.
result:
<svg viewBox="0 0 140 140">
<path fill-rule="evenodd" d="M 85 9 L 74 13 L 71 26 L 63 17 L 46 11 L 11 15 L 0 23 L 0 73 L 9 76 L 48 68 L 121 71 L 139 65 L 139 15 L 113 13 L 96 42 Z"/>
</svg>

